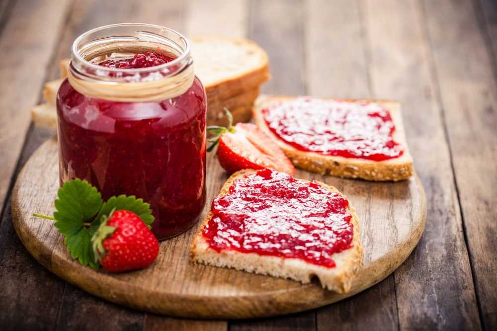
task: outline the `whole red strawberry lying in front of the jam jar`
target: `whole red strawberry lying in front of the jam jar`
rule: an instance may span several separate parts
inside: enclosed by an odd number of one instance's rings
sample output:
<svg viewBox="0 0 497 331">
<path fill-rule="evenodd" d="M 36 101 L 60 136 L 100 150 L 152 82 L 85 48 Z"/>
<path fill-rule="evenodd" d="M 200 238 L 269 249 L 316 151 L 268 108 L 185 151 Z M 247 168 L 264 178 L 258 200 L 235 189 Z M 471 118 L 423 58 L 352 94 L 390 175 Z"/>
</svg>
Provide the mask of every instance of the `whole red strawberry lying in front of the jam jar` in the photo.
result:
<svg viewBox="0 0 497 331">
<path fill-rule="evenodd" d="M 145 268 L 159 253 L 159 242 L 152 231 L 127 210 L 104 217 L 91 242 L 96 259 L 110 272 Z"/>
</svg>

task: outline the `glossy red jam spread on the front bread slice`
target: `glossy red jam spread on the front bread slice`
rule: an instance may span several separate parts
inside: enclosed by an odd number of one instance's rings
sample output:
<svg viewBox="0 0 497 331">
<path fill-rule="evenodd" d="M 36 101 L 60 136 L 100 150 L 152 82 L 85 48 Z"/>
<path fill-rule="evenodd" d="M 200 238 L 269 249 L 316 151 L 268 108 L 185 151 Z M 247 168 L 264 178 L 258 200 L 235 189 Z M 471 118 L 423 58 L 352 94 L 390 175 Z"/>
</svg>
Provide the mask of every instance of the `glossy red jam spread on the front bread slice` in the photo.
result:
<svg viewBox="0 0 497 331">
<path fill-rule="evenodd" d="M 315 181 L 271 169 L 235 180 L 212 201 L 203 230 L 216 251 L 233 249 L 334 267 L 331 255 L 352 245 L 348 201 Z"/>
</svg>

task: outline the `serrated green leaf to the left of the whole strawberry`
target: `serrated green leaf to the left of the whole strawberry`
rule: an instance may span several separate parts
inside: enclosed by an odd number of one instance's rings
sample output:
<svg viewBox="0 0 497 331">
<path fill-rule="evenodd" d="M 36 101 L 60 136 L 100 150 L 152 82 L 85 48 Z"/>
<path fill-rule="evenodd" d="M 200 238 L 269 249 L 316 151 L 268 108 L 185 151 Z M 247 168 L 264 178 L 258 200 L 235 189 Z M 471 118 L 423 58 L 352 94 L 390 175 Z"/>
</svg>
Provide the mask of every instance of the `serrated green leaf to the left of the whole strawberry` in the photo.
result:
<svg viewBox="0 0 497 331">
<path fill-rule="evenodd" d="M 65 182 L 57 196 L 54 225 L 64 235 L 71 256 L 83 265 L 98 267 L 90 243 L 96 228 L 85 225 L 102 206 L 101 194 L 86 180 L 74 179 Z"/>
</svg>

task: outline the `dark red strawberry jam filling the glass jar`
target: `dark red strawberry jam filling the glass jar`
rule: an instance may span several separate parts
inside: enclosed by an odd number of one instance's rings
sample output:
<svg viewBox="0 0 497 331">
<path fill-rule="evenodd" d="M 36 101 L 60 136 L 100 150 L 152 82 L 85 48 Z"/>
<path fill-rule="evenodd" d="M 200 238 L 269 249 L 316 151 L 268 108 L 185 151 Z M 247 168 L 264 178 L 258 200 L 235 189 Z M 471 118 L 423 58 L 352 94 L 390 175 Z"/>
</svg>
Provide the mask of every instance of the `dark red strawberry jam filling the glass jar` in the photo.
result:
<svg viewBox="0 0 497 331">
<path fill-rule="evenodd" d="M 143 68 L 172 59 L 151 52 L 101 65 Z M 159 239 L 188 229 L 205 204 L 206 100 L 197 78 L 173 99 L 134 103 L 91 98 L 65 80 L 57 96 L 61 183 L 86 179 L 104 200 L 143 198 Z"/>
</svg>

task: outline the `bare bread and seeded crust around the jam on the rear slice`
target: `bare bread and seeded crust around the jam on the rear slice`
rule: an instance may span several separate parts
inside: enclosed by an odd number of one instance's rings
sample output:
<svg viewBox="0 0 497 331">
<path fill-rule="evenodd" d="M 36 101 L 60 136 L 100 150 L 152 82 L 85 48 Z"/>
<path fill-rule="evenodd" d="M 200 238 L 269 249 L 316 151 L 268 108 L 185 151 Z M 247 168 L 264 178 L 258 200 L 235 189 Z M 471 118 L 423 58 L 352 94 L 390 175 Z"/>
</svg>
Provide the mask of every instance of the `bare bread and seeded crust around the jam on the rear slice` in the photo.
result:
<svg viewBox="0 0 497 331">
<path fill-rule="evenodd" d="M 252 109 L 255 124 L 271 137 L 285 152 L 293 164 L 299 168 L 321 174 L 337 177 L 361 178 L 372 181 L 398 181 L 409 178 L 413 174 L 413 158 L 409 153 L 404 125 L 402 122 L 401 105 L 395 101 L 370 100 L 385 106 L 395 124 L 393 138 L 404 147 L 404 154 L 399 158 L 386 161 L 344 158 L 326 156 L 315 152 L 304 152 L 295 149 L 276 137 L 266 125 L 261 110 L 272 102 L 288 101 L 296 96 L 261 96 Z M 359 101 L 347 99 L 346 101 Z"/>
</svg>

